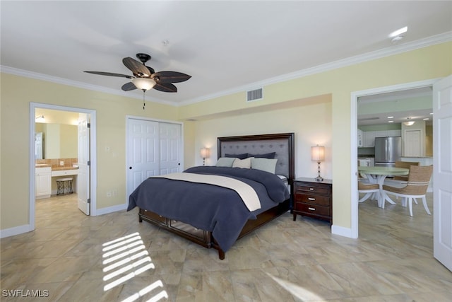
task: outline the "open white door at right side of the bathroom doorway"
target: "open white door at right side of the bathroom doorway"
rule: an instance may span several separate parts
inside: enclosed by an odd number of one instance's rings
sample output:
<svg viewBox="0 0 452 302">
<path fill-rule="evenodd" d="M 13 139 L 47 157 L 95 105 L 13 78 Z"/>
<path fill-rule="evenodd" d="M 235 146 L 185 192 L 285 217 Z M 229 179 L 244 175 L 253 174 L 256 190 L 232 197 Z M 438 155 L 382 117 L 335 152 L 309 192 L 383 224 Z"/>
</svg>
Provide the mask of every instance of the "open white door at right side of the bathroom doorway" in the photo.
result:
<svg viewBox="0 0 452 302">
<path fill-rule="evenodd" d="M 78 114 L 78 209 L 90 215 L 90 115 Z"/>
</svg>

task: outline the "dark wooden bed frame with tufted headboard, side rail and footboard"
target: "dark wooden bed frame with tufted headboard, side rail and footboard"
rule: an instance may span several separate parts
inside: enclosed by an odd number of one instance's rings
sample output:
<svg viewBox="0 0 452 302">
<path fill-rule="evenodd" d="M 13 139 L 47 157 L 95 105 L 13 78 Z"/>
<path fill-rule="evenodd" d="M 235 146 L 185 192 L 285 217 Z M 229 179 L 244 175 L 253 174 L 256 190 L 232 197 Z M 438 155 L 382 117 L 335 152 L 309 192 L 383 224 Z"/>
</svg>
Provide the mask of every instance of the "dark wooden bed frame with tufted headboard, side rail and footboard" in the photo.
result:
<svg viewBox="0 0 452 302">
<path fill-rule="evenodd" d="M 224 156 L 225 153 L 239 154 L 248 151 L 247 153 L 251 154 L 261 154 L 268 153 L 269 151 L 275 151 L 275 158 L 278 158 L 276 173 L 284 175 L 290 185 L 290 199 L 287 199 L 285 202 L 278 204 L 278 206 L 256 215 L 257 219 L 249 219 L 244 228 L 242 228 L 242 232 L 237 239 L 246 236 L 246 234 L 251 233 L 256 230 L 256 228 L 272 221 L 290 209 L 290 201 L 293 197 L 293 180 L 295 179 L 294 137 L 295 135 L 293 133 L 282 133 L 218 138 L 218 158 Z M 210 231 L 200 230 L 190 226 L 187 223 L 167 219 L 166 217 L 155 214 L 152 211 L 139 209 L 138 221 L 142 222 L 143 220 L 156 226 L 160 226 L 167 231 L 191 240 L 192 242 L 202 245 L 203 247 L 215 248 L 218 250 L 218 257 L 220 257 L 220 260 L 225 259 L 225 252 L 221 250 Z"/>
</svg>

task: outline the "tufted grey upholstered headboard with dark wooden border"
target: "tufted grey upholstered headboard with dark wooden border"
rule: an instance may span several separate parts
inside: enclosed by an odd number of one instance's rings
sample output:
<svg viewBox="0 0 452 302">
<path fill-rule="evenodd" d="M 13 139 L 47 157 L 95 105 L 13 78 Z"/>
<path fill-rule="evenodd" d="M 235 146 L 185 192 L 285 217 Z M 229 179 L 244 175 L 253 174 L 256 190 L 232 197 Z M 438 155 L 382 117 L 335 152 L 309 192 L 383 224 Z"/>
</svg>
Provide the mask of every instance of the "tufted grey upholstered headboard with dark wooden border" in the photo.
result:
<svg viewBox="0 0 452 302">
<path fill-rule="evenodd" d="M 218 137 L 218 158 L 225 154 L 265 154 L 275 152 L 275 173 L 289 180 L 295 178 L 295 144 L 293 133 Z"/>
</svg>

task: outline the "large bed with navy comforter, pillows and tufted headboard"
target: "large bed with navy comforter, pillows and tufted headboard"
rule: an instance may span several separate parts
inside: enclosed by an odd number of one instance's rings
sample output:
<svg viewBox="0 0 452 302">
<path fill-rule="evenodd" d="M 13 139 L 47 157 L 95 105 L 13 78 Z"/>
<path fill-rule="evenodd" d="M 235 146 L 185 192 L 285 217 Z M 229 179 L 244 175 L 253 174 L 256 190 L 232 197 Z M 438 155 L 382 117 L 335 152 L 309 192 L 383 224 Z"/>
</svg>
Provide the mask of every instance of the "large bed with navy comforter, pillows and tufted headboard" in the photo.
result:
<svg viewBox="0 0 452 302">
<path fill-rule="evenodd" d="M 219 137 L 218 163 L 225 158 L 225 161 L 239 158 L 245 162 L 253 158 L 254 163 L 266 162 L 255 158 L 273 156 L 275 173 L 221 165 L 193 167 L 184 173 L 148 178 L 129 197 L 128 211 L 138 207 L 139 222 L 153 223 L 203 247 L 214 248 L 223 260 L 236 240 L 290 209 L 294 149 L 293 133 Z M 199 182 L 192 177 L 200 178 Z M 246 188 L 232 190 L 219 183 L 206 184 L 207 178 L 208 181 L 218 178 L 220 182 L 226 178 L 231 182 L 240 180 L 242 185 L 246 183 Z M 258 207 L 244 203 L 241 198 L 244 192 L 240 190 L 249 187 L 258 195 Z"/>
</svg>

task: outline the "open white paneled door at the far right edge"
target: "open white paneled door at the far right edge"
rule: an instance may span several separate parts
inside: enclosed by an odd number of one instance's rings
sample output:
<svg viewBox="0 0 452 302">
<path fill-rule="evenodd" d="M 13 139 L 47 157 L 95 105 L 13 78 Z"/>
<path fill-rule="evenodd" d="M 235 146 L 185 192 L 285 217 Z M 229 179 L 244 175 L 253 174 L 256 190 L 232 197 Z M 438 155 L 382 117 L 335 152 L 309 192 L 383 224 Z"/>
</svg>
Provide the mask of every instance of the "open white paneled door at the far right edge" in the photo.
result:
<svg viewBox="0 0 452 302">
<path fill-rule="evenodd" d="M 433 85 L 433 254 L 452 271 L 452 76 Z"/>
</svg>

